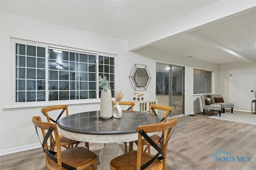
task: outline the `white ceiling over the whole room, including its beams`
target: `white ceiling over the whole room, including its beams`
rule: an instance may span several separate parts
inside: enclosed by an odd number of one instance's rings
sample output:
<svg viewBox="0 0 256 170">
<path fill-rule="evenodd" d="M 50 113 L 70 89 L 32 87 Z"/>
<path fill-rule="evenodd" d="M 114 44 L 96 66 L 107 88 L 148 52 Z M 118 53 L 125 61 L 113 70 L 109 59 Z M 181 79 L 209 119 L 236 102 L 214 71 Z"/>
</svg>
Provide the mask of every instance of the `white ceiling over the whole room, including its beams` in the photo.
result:
<svg viewBox="0 0 256 170">
<path fill-rule="evenodd" d="M 236 8 L 241 8 L 242 1 L 1 0 L 0 6 L 1 10 L 126 40 L 130 51 L 150 46 L 212 63 L 255 63 L 256 1 L 244 1 L 250 3 L 244 7 L 248 9 L 239 11 Z M 222 9 L 227 3 L 232 9 Z M 210 10 L 214 8 L 216 14 Z M 230 15 L 232 10 L 238 12 Z M 186 20 L 194 14 L 201 18 Z M 184 29 L 172 30 L 175 23 L 182 23 Z M 169 32 L 162 31 L 170 25 Z"/>
</svg>

